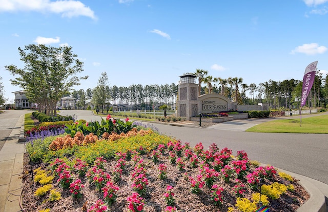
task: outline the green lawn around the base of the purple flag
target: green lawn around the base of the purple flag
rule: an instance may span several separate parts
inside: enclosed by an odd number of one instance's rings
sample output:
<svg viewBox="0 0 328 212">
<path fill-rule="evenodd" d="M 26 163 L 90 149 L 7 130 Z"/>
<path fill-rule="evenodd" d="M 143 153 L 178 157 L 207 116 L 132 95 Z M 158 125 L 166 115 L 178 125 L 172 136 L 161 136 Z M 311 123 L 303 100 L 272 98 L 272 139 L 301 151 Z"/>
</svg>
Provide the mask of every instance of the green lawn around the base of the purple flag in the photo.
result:
<svg viewBox="0 0 328 212">
<path fill-rule="evenodd" d="M 256 125 L 247 132 L 278 132 L 278 133 L 328 133 L 328 115 L 302 119 L 275 120 Z"/>
</svg>

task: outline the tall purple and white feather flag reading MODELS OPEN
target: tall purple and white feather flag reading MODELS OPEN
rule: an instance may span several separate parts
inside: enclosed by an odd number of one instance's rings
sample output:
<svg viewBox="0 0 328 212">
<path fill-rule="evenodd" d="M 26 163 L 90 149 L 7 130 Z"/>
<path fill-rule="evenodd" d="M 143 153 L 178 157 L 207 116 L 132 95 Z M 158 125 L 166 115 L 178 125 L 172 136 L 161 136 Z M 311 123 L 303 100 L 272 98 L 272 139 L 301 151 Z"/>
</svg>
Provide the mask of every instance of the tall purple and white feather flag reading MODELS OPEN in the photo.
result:
<svg viewBox="0 0 328 212">
<path fill-rule="evenodd" d="M 310 63 L 306 68 L 303 76 L 303 87 L 301 93 L 301 107 L 306 103 L 306 98 L 308 97 L 310 90 L 312 88 L 314 78 L 316 75 L 318 61 Z"/>
</svg>

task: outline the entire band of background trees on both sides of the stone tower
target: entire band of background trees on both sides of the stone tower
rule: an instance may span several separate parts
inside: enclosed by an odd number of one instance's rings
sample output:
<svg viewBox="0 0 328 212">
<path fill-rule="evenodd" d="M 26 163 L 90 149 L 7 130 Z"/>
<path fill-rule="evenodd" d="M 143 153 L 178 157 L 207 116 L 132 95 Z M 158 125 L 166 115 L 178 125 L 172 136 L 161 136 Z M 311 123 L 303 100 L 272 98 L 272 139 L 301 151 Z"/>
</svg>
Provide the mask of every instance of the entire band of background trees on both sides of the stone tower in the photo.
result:
<svg viewBox="0 0 328 212">
<path fill-rule="evenodd" d="M 108 109 L 110 103 L 126 104 L 129 109 L 158 109 L 166 104 L 175 107 L 178 97 L 178 85 L 130 85 L 129 87 L 110 86 L 106 72 L 101 73 L 96 87 L 73 90 L 80 80 L 88 76 L 77 77 L 83 71 L 83 62 L 77 59 L 72 47 L 48 47 L 45 45 L 28 45 L 25 49 L 18 48 L 24 68 L 15 65 L 5 66 L 12 74 L 18 75 L 11 84 L 19 85 L 27 94 L 30 102 L 39 105 L 39 111 L 47 115 L 55 115 L 56 103 L 60 98 L 70 95 L 78 99 L 77 107 L 85 108 L 88 103 L 99 109 Z M 242 78 L 230 77 L 222 79 L 208 75 L 207 70 L 196 69 L 192 74 L 198 78 L 199 95 L 219 93 L 238 104 L 268 103 L 273 109 L 294 109 L 300 105 L 302 81 L 284 80 L 243 83 Z M 1 80 L 1 79 L 0 79 Z M 204 85 L 204 86 L 203 86 Z M 0 103 L 3 98 L 3 85 L 0 82 Z M 251 97 L 247 97 L 249 91 Z M 323 78 L 316 71 L 315 81 L 310 91 L 308 107 L 326 107 L 328 99 L 328 75 Z"/>
</svg>

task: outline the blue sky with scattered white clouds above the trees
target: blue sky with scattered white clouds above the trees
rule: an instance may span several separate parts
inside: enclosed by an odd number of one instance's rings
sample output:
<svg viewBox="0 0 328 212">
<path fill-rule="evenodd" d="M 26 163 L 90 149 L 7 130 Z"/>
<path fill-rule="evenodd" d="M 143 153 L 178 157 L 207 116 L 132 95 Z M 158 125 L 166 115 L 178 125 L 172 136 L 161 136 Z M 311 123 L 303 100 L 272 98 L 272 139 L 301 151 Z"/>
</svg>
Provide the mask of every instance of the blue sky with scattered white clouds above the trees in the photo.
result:
<svg viewBox="0 0 328 212">
<path fill-rule="evenodd" d="M 72 46 L 94 88 L 171 84 L 197 68 L 243 83 L 302 80 L 306 66 L 328 70 L 328 0 L 0 0 L 0 76 L 23 68 L 18 47 Z M 325 75 L 324 75 L 325 76 Z"/>
</svg>

